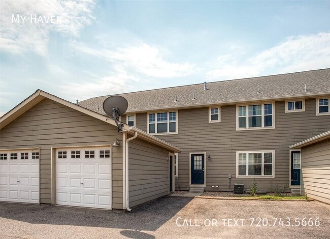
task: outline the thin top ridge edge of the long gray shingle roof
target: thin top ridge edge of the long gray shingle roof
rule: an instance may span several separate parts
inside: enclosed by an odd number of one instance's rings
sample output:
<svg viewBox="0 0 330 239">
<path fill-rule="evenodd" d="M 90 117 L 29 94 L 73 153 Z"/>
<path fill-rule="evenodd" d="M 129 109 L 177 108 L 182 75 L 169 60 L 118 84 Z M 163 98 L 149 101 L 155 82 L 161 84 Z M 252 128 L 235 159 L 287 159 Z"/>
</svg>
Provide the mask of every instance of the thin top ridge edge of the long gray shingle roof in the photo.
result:
<svg viewBox="0 0 330 239">
<path fill-rule="evenodd" d="M 305 70 L 305 71 L 296 71 L 296 72 L 289 72 L 289 73 L 281 73 L 281 74 L 271 74 L 271 75 L 261 75 L 261 76 L 255 76 L 255 77 L 247 77 L 247 78 L 237 78 L 237 79 L 225 79 L 223 81 L 215 81 L 215 82 L 208 82 L 208 84 L 214 84 L 219 82 L 229 82 L 229 81 L 242 81 L 244 79 L 255 79 L 255 78 L 262 78 L 262 77 L 270 77 L 270 76 L 278 76 L 278 75 L 289 75 L 289 74 L 296 74 L 296 73 L 304 73 L 304 72 L 310 72 L 310 71 L 319 71 L 319 70 L 328 70 L 330 68 L 322 68 L 322 69 L 314 69 L 314 70 Z M 157 89 L 150 89 L 150 90 L 142 90 L 142 91 L 133 91 L 133 92 L 126 92 L 126 93 L 118 93 L 118 94 L 112 94 L 112 95 L 103 95 L 103 96 L 96 96 L 92 98 L 88 98 L 85 100 L 90 99 L 96 99 L 106 96 L 114 96 L 114 95 L 125 95 L 125 94 L 132 94 L 132 93 L 140 93 L 140 92 L 148 92 L 148 91 L 156 91 L 156 90 L 165 90 L 165 89 L 171 89 L 171 88 L 179 88 L 179 87 L 187 87 L 187 86 L 196 86 L 196 85 L 202 85 L 203 83 L 196 83 L 196 84 L 190 84 L 190 85 L 183 85 L 183 86 L 174 86 L 174 87 L 163 87 L 163 88 L 157 88 Z M 80 102 L 83 102 L 85 100 L 82 100 Z"/>
</svg>

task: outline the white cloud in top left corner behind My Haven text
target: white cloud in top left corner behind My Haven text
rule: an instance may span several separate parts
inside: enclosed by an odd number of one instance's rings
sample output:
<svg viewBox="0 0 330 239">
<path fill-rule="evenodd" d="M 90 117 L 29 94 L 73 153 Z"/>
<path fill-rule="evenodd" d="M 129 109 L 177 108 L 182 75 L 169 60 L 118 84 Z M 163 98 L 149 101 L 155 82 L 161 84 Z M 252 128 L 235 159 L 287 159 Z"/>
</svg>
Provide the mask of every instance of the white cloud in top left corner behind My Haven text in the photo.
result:
<svg viewBox="0 0 330 239">
<path fill-rule="evenodd" d="M 44 56 L 51 31 L 78 36 L 95 19 L 94 0 L 1 1 L 0 6 L 0 49 L 16 54 L 32 50 Z"/>
</svg>

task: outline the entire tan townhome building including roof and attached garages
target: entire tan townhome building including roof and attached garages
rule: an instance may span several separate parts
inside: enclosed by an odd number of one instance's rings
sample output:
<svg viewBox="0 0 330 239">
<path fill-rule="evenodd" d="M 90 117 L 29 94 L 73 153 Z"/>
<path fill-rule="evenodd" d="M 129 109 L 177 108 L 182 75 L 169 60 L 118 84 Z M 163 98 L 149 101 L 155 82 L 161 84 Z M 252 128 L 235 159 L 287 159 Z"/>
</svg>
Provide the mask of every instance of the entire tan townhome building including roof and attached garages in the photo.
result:
<svg viewBox="0 0 330 239">
<path fill-rule="evenodd" d="M 109 96 L 74 104 L 38 90 L 2 116 L 0 201 L 129 211 L 256 179 L 330 202 L 330 69 L 120 95 L 122 132 Z"/>
</svg>

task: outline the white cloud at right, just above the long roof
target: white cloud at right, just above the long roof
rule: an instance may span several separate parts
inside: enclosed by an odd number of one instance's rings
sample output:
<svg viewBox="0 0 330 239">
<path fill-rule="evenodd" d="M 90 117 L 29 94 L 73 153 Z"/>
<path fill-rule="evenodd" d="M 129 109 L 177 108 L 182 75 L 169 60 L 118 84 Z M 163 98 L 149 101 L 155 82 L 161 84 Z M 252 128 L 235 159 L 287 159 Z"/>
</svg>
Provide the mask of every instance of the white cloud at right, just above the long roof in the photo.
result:
<svg viewBox="0 0 330 239">
<path fill-rule="evenodd" d="M 330 33 L 299 35 L 243 59 L 242 56 L 219 57 L 216 69 L 207 72 L 210 79 L 252 77 L 330 67 Z"/>
</svg>

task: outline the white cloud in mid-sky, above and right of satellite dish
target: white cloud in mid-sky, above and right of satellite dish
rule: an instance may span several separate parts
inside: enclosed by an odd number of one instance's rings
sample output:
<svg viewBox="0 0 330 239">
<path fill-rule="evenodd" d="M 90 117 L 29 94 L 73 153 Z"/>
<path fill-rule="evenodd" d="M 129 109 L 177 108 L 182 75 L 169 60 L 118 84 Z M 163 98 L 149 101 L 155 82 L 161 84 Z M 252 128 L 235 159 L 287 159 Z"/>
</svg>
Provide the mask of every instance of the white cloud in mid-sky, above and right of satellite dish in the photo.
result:
<svg viewBox="0 0 330 239">
<path fill-rule="evenodd" d="M 164 60 L 159 49 L 147 44 L 126 48 L 95 50 L 77 43 L 72 47 L 86 54 L 98 56 L 109 61 L 110 64 L 122 64 L 130 71 L 150 77 L 186 76 L 200 71 L 194 64 L 172 63 Z"/>
</svg>

